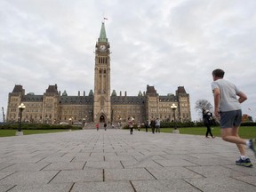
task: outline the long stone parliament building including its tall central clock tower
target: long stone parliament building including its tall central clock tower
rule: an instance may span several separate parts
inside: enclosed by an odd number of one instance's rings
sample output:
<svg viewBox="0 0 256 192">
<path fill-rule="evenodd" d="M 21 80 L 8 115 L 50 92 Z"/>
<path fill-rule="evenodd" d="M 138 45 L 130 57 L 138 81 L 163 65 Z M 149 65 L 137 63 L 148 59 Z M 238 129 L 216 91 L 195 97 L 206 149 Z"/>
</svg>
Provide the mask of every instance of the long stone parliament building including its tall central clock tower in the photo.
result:
<svg viewBox="0 0 256 192">
<path fill-rule="evenodd" d="M 66 91 L 60 94 L 54 84 L 49 85 L 43 95 L 25 94 L 23 86 L 16 84 L 9 93 L 6 121 L 18 121 L 21 102 L 26 106 L 22 121 L 31 123 L 120 123 L 129 116 L 140 122 L 153 117 L 173 121 L 173 113 L 178 121 L 191 120 L 189 94 L 184 86 L 179 86 L 175 94 L 161 96 L 154 86 L 147 85 L 146 92 L 128 96 L 126 92 L 117 95 L 115 90 L 110 93 L 110 83 L 110 44 L 102 22 L 95 46 L 94 92 L 68 96 Z M 177 106 L 176 110 L 172 110 L 172 104 Z"/>
</svg>

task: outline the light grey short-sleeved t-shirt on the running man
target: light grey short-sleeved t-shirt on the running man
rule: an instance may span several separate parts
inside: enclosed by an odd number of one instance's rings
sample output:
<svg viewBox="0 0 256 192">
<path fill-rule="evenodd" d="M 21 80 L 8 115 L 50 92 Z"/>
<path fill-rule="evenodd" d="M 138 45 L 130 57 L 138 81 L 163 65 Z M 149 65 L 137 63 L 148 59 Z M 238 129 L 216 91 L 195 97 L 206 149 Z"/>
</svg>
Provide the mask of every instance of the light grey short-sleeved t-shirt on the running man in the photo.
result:
<svg viewBox="0 0 256 192">
<path fill-rule="evenodd" d="M 212 91 L 215 88 L 220 89 L 220 111 L 232 111 L 241 109 L 241 105 L 236 98 L 236 94 L 240 90 L 235 84 L 228 82 L 225 79 L 218 79 L 212 82 Z"/>
</svg>

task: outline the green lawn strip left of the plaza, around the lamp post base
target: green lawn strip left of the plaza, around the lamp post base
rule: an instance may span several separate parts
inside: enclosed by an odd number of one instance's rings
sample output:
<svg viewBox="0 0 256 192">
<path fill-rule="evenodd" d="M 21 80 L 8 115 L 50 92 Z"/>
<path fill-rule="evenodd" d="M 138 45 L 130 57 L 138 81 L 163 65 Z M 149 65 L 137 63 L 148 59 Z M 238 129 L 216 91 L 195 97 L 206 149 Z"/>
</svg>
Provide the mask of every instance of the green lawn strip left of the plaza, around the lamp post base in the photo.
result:
<svg viewBox="0 0 256 192">
<path fill-rule="evenodd" d="M 10 137 L 15 136 L 17 130 L 0 130 L 0 137 Z M 42 134 L 42 133 L 52 133 L 52 132 L 68 132 L 68 130 L 22 130 L 24 135 L 29 134 Z"/>
</svg>

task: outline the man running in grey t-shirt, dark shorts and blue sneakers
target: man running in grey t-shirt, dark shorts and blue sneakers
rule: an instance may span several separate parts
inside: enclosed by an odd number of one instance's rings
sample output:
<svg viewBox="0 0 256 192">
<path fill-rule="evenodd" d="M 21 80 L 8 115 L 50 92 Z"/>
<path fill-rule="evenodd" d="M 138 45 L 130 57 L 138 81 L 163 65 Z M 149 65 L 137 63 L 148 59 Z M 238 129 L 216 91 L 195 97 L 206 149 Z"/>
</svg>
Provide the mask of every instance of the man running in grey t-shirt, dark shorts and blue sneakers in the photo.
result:
<svg viewBox="0 0 256 192">
<path fill-rule="evenodd" d="M 224 80 L 224 74 L 225 72 L 220 68 L 212 71 L 214 115 L 220 117 L 220 134 L 222 140 L 235 143 L 240 152 L 240 158 L 236 160 L 236 164 L 251 167 L 252 163 L 245 155 L 244 145 L 251 148 L 254 156 L 256 156 L 255 138 L 244 140 L 238 135 L 239 126 L 242 121 L 241 103 L 247 100 L 247 96 L 235 84 Z M 238 99 L 236 96 L 238 96 Z"/>
</svg>

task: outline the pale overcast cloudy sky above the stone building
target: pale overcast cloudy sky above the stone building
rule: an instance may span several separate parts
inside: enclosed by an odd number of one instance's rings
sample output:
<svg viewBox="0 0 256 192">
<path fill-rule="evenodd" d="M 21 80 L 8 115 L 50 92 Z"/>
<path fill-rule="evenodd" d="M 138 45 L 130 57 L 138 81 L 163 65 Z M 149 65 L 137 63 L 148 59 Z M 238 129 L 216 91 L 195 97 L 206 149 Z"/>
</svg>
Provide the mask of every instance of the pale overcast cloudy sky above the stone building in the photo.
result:
<svg viewBox="0 0 256 192">
<path fill-rule="evenodd" d="M 26 94 L 57 84 L 69 96 L 87 95 L 105 21 L 111 92 L 136 96 L 151 85 L 167 95 L 184 86 L 197 120 L 196 100 L 213 105 L 212 70 L 222 68 L 248 96 L 243 113 L 255 121 L 255 7 L 255 0 L 0 0 L 0 107 L 6 115 L 15 84 Z"/>
</svg>

